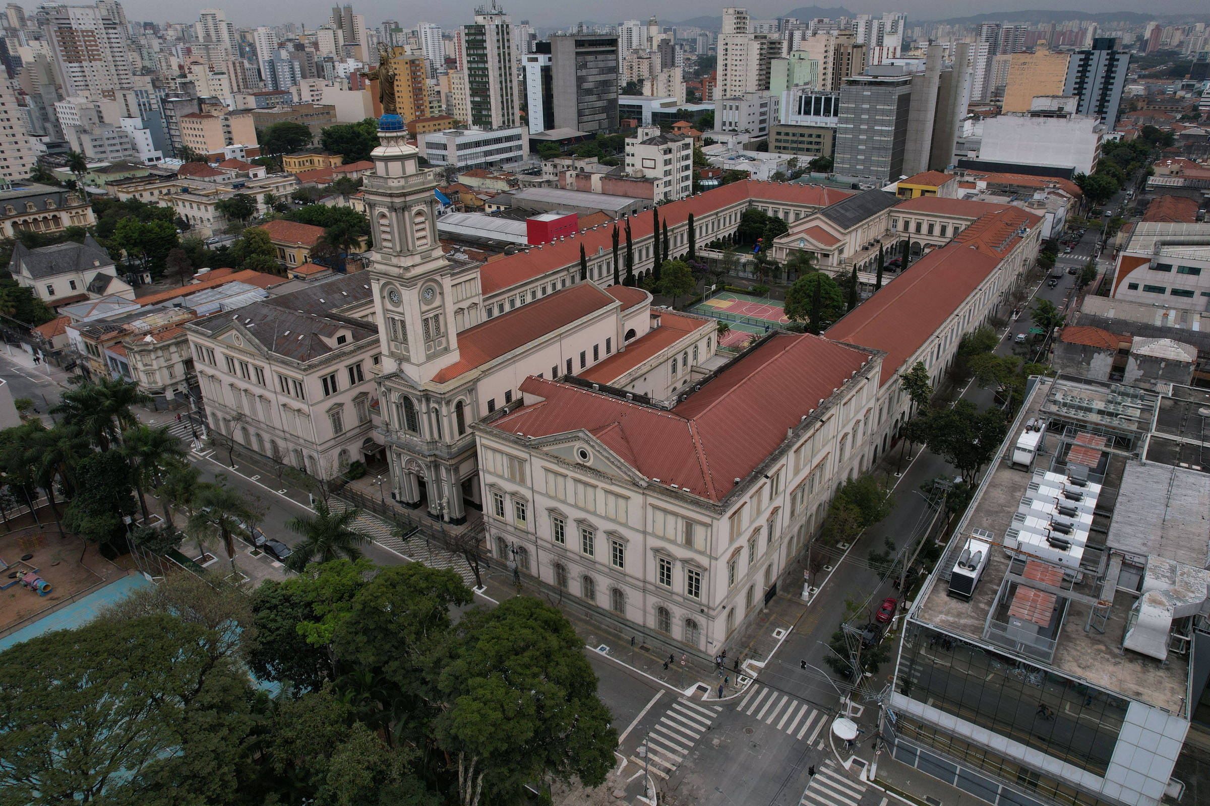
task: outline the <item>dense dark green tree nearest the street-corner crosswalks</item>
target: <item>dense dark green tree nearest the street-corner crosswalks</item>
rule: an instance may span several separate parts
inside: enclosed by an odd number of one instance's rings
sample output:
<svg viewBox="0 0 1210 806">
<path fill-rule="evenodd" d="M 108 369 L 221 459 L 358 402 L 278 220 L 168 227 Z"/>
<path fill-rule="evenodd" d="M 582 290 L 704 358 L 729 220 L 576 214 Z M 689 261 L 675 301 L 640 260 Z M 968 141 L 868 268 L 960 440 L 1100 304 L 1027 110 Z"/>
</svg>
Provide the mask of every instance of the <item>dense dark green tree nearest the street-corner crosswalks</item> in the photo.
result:
<svg viewBox="0 0 1210 806">
<path fill-rule="evenodd" d="M 459 801 L 513 799 L 526 781 L 546 777 L 603 783 L 617 731 L 567 619 L 540 599 L 514 597 L 472 610 L 455 631 L 433 730 L 456 764 Z"/>
</svg>

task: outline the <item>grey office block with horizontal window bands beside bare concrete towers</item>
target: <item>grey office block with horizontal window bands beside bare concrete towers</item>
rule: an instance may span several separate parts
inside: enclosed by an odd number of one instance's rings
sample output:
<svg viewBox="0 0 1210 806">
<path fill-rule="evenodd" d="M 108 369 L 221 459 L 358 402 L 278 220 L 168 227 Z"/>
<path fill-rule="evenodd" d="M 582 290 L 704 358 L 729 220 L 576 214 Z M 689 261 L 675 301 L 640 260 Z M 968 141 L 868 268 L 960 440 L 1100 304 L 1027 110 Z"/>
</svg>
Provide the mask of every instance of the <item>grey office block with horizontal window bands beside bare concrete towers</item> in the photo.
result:
<svg viewBox="0 0 1210 806">
<path fill-rule="evenodd" d="M 870 68 L 868 73 L 887 75 L 849 76 L 840 88 L 834 170 L 893 181 L 904 173 L 912 80 L 898 68 Z"/>
</svg>

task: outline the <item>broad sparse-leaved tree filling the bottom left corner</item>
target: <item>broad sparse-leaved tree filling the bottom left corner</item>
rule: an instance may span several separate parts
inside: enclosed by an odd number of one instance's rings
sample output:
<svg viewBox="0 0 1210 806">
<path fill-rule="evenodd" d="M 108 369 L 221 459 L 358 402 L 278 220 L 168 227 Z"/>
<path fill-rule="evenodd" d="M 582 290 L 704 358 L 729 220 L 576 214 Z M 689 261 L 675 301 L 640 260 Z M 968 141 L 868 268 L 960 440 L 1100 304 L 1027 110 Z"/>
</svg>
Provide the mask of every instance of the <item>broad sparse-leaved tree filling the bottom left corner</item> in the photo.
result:
<svg viewBox="0 0 1210 806">
<path fill-rule="evenodd" d="M 235 801 L 250 689 L 211 632 L 102 620 L 0 655 L 0 802 Z"/>
</svg>

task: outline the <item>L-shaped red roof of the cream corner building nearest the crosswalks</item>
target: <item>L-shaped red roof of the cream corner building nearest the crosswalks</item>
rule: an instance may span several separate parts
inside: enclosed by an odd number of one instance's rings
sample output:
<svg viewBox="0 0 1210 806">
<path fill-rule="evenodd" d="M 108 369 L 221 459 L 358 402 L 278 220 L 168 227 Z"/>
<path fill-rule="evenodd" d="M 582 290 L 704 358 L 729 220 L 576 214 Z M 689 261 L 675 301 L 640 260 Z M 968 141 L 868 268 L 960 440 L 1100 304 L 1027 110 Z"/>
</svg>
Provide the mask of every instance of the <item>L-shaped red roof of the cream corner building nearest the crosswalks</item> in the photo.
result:
<svg viewBox="0 0 1210 806">
<path fill-rule="evenodd" d="M 778 334 L 670 411 L 530 377 L 522 392 L 542 400 L 494 425 L 528 436 L 587 430 L 645 477 L 718 501 L 869 360 L 819 336 Z"/>
</svg>

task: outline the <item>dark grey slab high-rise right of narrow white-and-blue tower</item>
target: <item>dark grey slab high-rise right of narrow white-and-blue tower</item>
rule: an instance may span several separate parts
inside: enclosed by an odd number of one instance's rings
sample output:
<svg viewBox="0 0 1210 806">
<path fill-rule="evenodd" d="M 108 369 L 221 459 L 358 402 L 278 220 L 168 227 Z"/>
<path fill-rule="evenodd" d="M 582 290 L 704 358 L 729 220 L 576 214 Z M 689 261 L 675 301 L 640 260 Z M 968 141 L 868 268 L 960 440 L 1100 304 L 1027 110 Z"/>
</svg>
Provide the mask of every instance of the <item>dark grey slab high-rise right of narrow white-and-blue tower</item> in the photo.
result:
<svg viewBox="0 0 1210 806">
<path fill-rule="evenodd" d="M 554 128 L 612 132 L 617 117 L 617 36 L 551 37 Z"/>
</svg>

